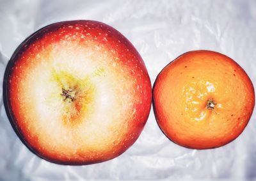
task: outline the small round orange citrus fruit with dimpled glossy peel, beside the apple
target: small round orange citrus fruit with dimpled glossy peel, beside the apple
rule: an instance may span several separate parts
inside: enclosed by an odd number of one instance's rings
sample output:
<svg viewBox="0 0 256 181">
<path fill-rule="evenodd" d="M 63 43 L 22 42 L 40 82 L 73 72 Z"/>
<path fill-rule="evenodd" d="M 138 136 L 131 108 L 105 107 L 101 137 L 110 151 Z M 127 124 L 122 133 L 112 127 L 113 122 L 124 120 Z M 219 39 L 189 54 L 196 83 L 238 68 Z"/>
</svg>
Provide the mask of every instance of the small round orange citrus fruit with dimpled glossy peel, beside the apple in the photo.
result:
<svg viewBox="0 0 256 181">
<path fill-rule="evenodd" d="M 255 104 L 253 84 L 234 60 L 213 51 L 191 51 L 157 76 L 157 123 L 173 142 L 188 148 L 223 146 L 243 132 Z"/>
</svg>

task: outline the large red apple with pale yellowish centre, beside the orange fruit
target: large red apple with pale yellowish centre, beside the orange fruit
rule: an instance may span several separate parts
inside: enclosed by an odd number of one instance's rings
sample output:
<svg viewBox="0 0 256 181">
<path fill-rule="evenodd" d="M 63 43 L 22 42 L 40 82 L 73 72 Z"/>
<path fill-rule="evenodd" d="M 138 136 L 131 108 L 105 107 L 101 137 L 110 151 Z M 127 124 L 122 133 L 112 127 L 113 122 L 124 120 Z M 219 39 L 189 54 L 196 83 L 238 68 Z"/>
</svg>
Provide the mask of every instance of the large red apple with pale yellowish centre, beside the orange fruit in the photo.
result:
<svg viewBox="0 0 256 181">
<path fill-rule="evenodd" d="M 125 152 L 143 130 L 151 84 L 140 54 L 116 29 L 58 22 L 29 36 L 4 74 L 4 105 L 28 148 L 58 164 Z"/>
</svg>

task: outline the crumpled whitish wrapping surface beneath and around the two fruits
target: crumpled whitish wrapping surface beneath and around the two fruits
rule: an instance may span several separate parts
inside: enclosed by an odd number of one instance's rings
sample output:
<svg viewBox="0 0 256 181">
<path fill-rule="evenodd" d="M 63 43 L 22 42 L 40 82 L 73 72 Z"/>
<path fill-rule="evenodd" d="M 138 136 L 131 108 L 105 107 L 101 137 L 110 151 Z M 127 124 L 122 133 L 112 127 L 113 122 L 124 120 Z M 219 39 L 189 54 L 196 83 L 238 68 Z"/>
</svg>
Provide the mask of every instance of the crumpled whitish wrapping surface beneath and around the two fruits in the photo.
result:
<svg viewBox="0 0 256 181">
<path fill-rule="evenodd" d="M 17 46 L 61 20 L 90 19 L 113 26 L 138 49 L 152 84 L 180 54 L 209 49 L 230 56 L 256 85 L 256 1 L 29 1 L 0 0 L 0 180 L 256 180 L 256 113 L 243 134 L 211 150 L 172 143 L 153 110 L 136 143 L 111 161 L 62 166 L 24 146 L 3 106 L 3 74 Z"/>
</svg>

